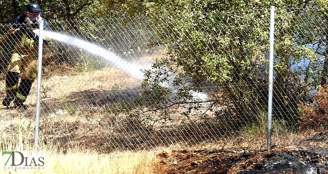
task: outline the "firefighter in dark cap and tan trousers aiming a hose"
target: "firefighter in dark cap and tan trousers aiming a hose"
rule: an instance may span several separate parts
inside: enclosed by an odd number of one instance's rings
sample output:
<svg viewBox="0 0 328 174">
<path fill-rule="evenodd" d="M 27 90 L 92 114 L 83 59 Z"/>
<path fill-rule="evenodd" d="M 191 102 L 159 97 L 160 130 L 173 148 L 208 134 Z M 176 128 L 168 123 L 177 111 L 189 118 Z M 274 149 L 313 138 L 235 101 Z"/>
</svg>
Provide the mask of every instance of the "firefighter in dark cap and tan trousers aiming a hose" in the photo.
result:
<svg viewBox="0 0 328 174">
<path fill-rule="evenodd" d="M 37 74 L 38 59 L 38 36 L 33 29 L 39 28 L 42 19 L 41 9 L 38 4 L 31 3 L 26 6 L 26 14 L 19 15 L 12 22 L 10 37 L 15 39 L 15 48 L 8 65 L 6 75 L 6 98 L 2 101 L 4 106 L 9 107 L 13 101 L 16 108 L 27 108 L 23 104 L 30 93 L 32 83 Z M 47 20 L 44 21 L 44 30 L 51 31 Z M 48 44 L 50 39 L 43 37 L 43 44 Z M 20 84 L 18 85 L 19 77 Z"/>
</svg>

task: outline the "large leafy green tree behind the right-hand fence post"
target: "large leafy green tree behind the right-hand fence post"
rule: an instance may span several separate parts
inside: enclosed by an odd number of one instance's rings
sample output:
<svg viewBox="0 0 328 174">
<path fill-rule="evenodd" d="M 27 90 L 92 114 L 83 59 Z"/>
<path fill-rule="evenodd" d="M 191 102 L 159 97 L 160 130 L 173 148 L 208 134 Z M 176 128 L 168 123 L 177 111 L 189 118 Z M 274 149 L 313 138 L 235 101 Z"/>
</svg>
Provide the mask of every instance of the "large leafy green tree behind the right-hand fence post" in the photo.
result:
<svg viewBox="0 0 328 174">
<path fill-rule="evenodd" d="M 158 19 L 165 26 L 158 31 L 159 40 L 168 46 L 169 59 L 158 61 L 155 67 L 177 66 L 181 76 L 193 81 L 188 90 L 200 90 L 204 80 L 219 86 L 215 103 L 225 108 L 223 115 L 238 118 L 236 124 L 240 126 L 256 121 L 267 111 L 269 7 L 276 6 L 275 116 L 296 123 L 297 104 L 318 82 L 314 73 L 319 68 L 318 55 L 306 46 L 316 37 L 305 34 L 309 29 L 302 20 L 305 9 L 313 6 L 311 1 L 157 3 L 161 7 L 153 8 L 152 13 L 167 15 Z M 291 69 L 304 59 L 309 61 L 306 68 Z M 149 74 L 150 79 L 162 77 Z M 183 83 L 175 81 L 177 86 Z M 146 80 L 145 86 L 151 84 Z"/>
</svg>

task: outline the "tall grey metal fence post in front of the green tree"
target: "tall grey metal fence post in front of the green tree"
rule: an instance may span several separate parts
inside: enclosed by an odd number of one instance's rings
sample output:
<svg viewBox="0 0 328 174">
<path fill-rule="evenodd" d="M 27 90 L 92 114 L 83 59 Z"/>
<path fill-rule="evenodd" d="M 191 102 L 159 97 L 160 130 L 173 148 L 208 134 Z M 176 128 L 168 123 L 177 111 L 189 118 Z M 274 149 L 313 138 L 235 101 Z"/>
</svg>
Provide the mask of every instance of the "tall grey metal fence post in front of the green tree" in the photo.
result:
<svg viewBox="0 0 328 174">
<path fill-rule="evenodd" d="M 269 61 L 269 102 L 268 102 L 268 150 L 271 149 L 272 131 L 272 91 L 273 91 L 273 40 L 275 26 L 275 6 L 270 8 L 270 61 Z"/>
</svg>

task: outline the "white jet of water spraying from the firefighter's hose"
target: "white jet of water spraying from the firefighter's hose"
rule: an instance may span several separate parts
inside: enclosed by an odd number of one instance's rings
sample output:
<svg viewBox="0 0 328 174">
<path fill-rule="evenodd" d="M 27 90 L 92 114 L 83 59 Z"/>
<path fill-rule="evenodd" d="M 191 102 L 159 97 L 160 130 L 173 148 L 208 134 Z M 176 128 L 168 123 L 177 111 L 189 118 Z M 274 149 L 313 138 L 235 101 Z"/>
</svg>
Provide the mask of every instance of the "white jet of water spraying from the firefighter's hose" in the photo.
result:
<svg viewBox="0 0 328 174">
<path fill-rule="evenodd" d="M 38 30 L 33 30 L 34 33 L 39 33 Z M 42 31 L 43 36 L 49 37 L 51 39 L 55 39 L 59 42 L 66 43 L 68 45 L 72 45 L 78 49 L 84 50 L 88 54 L 92 54 L 94 56 L 98 56 L 101 59 L 106 60 L 111 66 L 121 69 L 125 71 L 126 73 L 130 74 L 132 77 L 137 79 L 144 79 L 144 70 L 152 70 L 152 64 L 136 64 L 130 61 L 126 61 L 113 53 L 112 51 L 109 51 L 106 48 L 102 48 L 100 46 L 97 46 L 93 43 L 89 43 L 87 41 L 71 37 L 68 35 L 56 33 L 56 32 L 50 32 L 50 31 Z M 160 82 L 159 85 L 172 89 L 172 96 L 177 92 L 176 86 L 173 85 L 174 76 L 170 76 L 168 78 L 167 83 Z M 206 101 L 208 100 L 208 95 L 206 93 L 199 93 L 193 90 L 190 90 L 189 93 L 194 97 L 196 101 Z"/>
</svg>

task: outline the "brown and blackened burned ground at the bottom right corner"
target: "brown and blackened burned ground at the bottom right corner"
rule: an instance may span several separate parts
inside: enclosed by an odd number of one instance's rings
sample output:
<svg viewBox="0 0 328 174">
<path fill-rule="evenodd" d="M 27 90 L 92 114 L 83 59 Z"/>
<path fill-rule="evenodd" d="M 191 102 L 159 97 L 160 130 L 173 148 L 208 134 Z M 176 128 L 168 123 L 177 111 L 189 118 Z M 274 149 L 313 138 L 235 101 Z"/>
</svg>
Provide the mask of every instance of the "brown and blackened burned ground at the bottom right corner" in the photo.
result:
<svg viewBox="0 0 328 174">
<path fill-rule="evenodd" d="M 183 174 L 326 174 L 328 132 L 295 142 L 293 146 L 175 150 L 157 154 L 155 173 Z"/>
</svg>

